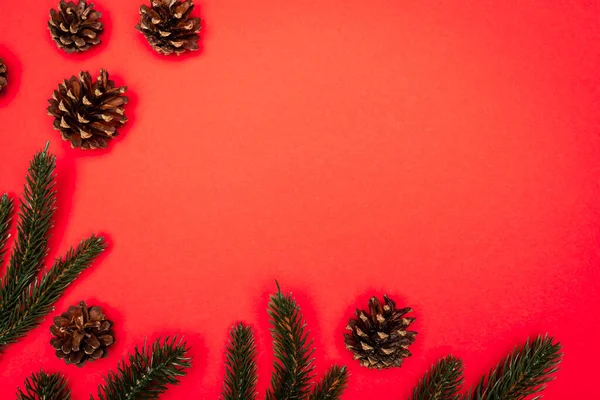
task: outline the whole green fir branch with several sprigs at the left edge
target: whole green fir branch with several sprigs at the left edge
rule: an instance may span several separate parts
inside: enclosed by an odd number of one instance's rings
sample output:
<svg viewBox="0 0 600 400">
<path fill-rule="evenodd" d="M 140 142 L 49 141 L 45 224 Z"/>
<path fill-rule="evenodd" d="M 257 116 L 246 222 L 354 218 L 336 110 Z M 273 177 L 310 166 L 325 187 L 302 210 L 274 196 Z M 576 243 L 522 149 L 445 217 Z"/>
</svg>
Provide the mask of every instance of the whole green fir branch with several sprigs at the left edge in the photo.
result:
<svg viewBox="0 0 600 400">
<path fill-rule="evenodd" d="M 0 282 L 0 353 L 36 327 L 77 276 L 106 248 L 102 237 L 91 236 L 50 269 L 44 268 L 52 228 L 56 192 L 56 158 L 46 148 L 37 153 L 26 176 L 20 201 L 17 237 L 6 273 Z M 0 262 L 8 241 L 12 201 L 0 199 Z M 43 271 L 43 272 L 42 272 Z M 38 274 L 42 272 L 41 277 Z"/>
</svg>

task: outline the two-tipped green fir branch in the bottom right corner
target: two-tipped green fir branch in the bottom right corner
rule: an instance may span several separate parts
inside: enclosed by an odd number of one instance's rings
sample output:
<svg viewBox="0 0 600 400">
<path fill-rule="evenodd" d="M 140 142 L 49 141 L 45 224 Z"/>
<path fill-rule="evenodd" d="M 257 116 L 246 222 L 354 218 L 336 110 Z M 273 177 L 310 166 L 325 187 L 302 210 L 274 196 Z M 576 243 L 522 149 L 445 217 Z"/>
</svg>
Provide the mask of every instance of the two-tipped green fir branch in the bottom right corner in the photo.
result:
<svg viewBox="0 0 600 400">
<path fill-rule="evenodd" d="M 463 384 L 463 363 L 448 356 L 425 374 L 409 400 L 523 400 L 543 391 L 554 379 L 553 374 L 562 360 L 560 350 L 561 345 L 547 335 L 538 336 L 533 342 L 527 340 L 465 396 L 459 394 Z"/>
</svg>

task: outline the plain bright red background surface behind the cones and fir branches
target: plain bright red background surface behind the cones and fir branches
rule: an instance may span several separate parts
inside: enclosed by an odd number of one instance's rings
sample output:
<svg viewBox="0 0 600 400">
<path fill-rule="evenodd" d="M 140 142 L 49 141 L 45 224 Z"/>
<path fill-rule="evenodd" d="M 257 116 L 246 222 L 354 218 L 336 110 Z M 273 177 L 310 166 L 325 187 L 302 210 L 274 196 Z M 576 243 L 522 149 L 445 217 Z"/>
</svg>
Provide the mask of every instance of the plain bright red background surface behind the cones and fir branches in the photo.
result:
<svg viewBox="0 0 600 400">
<path fill-rule="evenodd" d="M 46 28 L 55 3 L 2 0 L 0 185 L 20 194 L 51 141 L 50 256 L 110 241 L 57 313 L 101 305 L 118 341 L 67 366 L 48 318 L 1 357 L 0 398 L 40 367 L 87 398 L 144 337 L 184 333 L 194 367 L 164 399 L 214 399 L 238 320 L 256 329 L 263 393 L 275 279 L 303 307 L 318 371 L 349 366 L 344 399 L 406 398 L 448 353 L 472 384 L 545 332 L 565 352 L 546 398 L 600 397 L 598 2 L 205 0 L 203 50 L 181 58 L 133 29 L 139 0 L 99 1 L 103 44 L 66 55 Z M 130 122 L 106 151 L 71 150 L 46 100 L 101 67 L 129 87 Z M 343 327 L 384 292 L 420 334 L 403 368 L 369 371 Z"/>
</svg>

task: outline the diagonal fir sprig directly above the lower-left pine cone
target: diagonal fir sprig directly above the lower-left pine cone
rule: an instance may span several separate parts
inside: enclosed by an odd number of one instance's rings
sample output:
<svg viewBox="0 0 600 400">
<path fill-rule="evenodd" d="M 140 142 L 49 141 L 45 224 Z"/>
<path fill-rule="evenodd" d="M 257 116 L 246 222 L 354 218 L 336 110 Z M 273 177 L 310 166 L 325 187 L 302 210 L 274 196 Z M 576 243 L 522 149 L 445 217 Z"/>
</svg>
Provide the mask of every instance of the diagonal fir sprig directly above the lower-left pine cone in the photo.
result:
<svg viewBox="0 0 600 400">
<path fill-rule="evenodd" d="M 67 287 L 105 248 L 102 237 L 83 240 L 76 250 L 69 250 L 64 259 L 57 260 L 41 281 L 36 280 L 26 288 L 17 307 L 0 310 L 0 351 L 2 346 L 17 341 L 35 328 L 40 319 L 52 311 L 52 305 Z"/>
</svg>

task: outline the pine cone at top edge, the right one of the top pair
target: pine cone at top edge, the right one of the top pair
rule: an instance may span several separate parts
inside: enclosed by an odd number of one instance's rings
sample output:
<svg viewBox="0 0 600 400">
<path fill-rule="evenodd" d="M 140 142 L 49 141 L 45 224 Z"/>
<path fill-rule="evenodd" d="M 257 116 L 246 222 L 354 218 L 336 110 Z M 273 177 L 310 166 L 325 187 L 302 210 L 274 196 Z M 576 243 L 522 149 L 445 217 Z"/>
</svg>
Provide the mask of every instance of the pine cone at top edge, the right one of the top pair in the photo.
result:
<svg viewBox="0 0 600 400">
<path fill-rule="evenodd" d="M 200 18 L 190 18 L 192 0 L 151 0 L 152 7 L 140 7 L 140 23 L 135 28 L 161 54 L 180 55 L 198 50 Z"/>
</svg>

